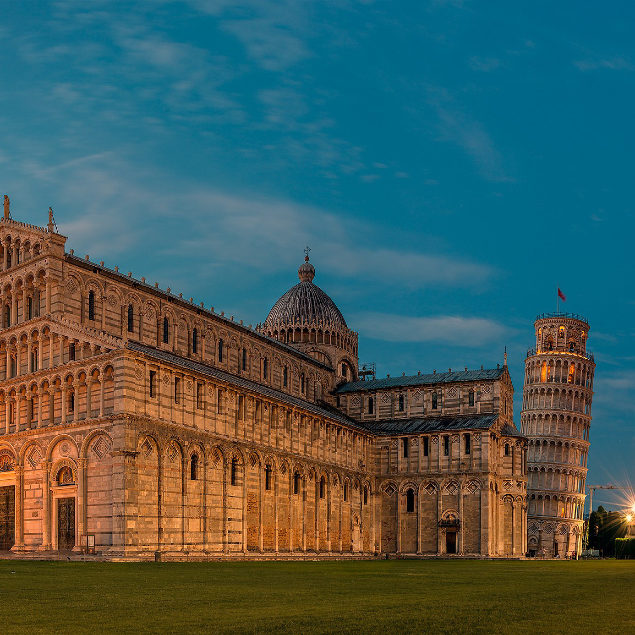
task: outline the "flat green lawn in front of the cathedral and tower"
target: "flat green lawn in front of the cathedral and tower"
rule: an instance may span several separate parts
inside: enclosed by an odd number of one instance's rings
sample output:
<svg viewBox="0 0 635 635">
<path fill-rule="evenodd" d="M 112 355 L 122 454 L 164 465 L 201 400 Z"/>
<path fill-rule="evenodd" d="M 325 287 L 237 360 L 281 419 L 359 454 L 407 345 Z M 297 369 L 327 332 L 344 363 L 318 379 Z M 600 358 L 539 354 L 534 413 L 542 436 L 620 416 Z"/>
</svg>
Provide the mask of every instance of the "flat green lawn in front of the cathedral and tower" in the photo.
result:
<svg viewBox="0 0 635 635">
<path fill-rule="evenodd" d="M 0 561 L 3 635 L 632 633 L 635 561 Z"/>
</svg>

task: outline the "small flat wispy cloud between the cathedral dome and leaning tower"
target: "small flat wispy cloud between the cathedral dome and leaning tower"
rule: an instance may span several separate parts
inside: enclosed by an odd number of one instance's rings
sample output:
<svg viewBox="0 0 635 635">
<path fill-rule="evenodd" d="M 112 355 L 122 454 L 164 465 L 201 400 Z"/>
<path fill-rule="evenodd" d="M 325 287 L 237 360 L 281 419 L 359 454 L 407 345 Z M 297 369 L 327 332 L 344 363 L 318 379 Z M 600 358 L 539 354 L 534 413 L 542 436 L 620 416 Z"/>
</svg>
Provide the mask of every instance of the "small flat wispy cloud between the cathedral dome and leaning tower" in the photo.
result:
<svg viewBox="0 0 635 635">
<path fill-rule="evenodd" d="M 491 319 L 465 316 L 424 318 L 366 313 L 355 316 L 354 323 L 366 337 L 389 342 L 439 342 L 463 348 L 497 342 L 508 332 Z"/>
</svg>

